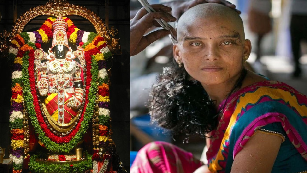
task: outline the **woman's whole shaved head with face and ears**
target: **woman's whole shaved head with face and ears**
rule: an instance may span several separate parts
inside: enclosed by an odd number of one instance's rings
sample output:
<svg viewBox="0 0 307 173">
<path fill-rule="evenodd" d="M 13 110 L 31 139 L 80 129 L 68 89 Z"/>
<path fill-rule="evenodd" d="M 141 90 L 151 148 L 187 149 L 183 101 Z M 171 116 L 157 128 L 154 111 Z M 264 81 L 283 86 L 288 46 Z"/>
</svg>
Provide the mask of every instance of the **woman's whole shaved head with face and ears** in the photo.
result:
<svg viewBox="0 0 307 173">
<path fill-rule="evenodd" d="M 176 62 L 183 63 L 205 89 L 236 81 L 251 53 L 239 14 L 217 3 L 187 10 L 178 21 L 177 40 L 173 46 Z"/>
</svg>

